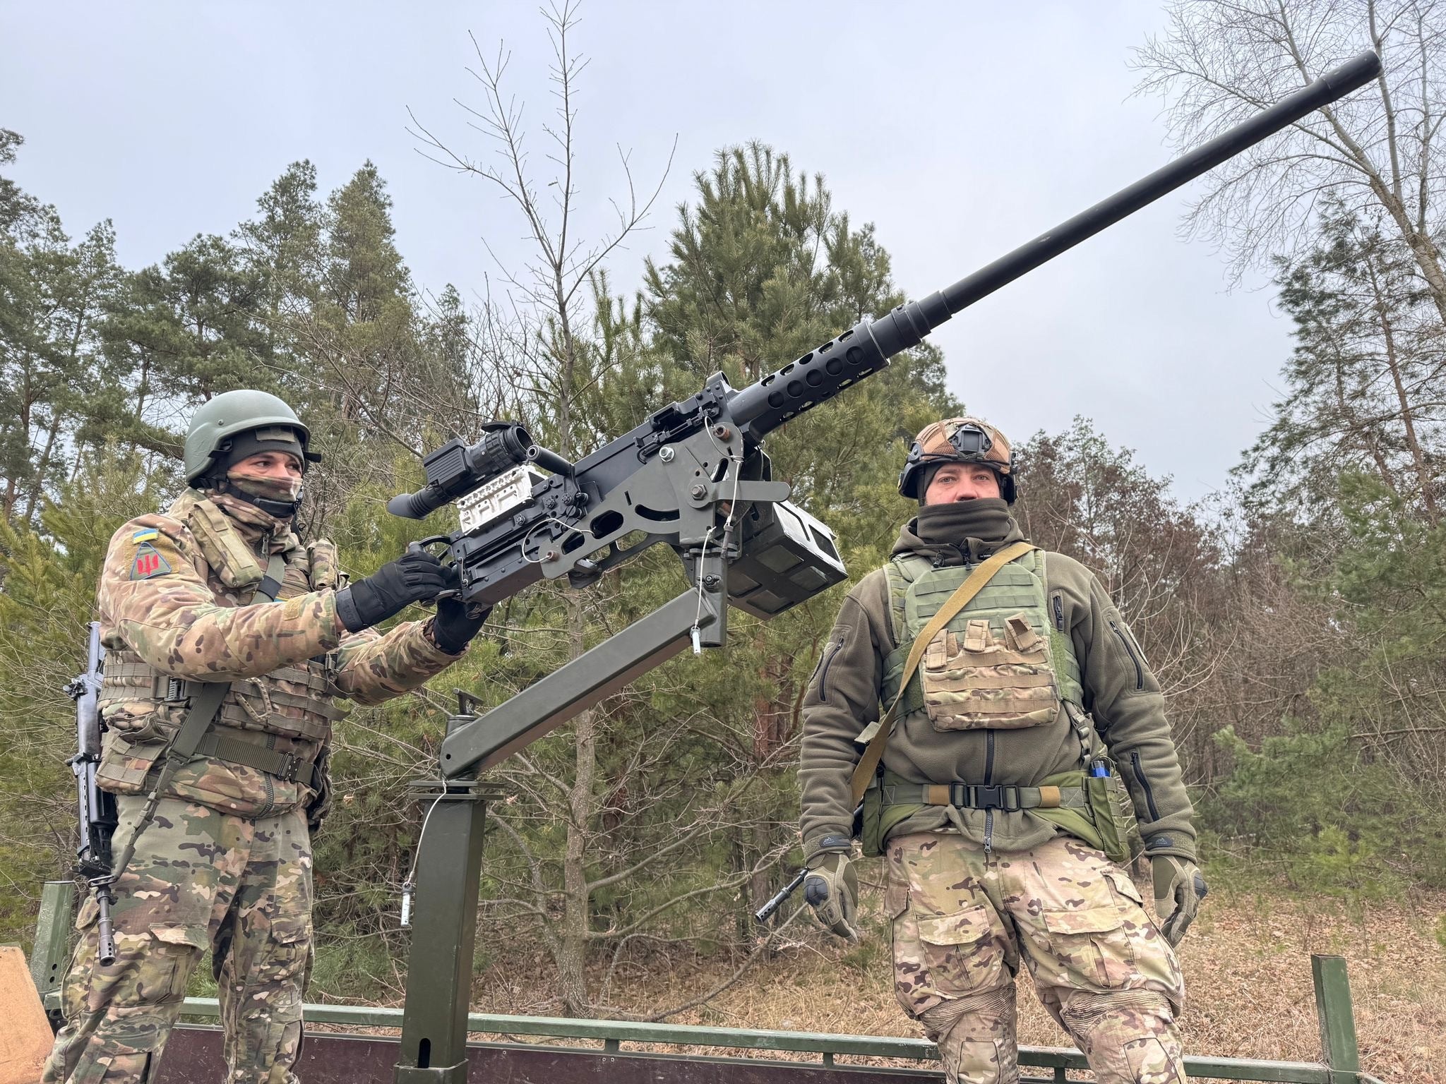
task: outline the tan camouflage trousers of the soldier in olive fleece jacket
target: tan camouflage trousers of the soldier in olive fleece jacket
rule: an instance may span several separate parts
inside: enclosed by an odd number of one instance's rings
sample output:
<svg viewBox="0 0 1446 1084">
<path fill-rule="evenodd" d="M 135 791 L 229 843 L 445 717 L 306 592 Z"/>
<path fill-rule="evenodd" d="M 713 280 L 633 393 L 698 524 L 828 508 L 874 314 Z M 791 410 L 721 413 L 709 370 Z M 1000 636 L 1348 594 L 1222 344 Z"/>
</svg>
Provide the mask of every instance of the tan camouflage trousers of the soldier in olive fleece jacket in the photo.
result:
<svg viewBox="0 0 1446 1084">
<path fill-rule="evenodd" d="M 891 838 L 886 863 L 895 991 L 938 1044 L 949 1084 L 1018 1080 L 1021 954 L 1100 1084 L 1186 1084 L 1180 965 L 1100 851 L 1056 835 L 985 854 L 951 833 L 917 833 Z"/>
</svg>

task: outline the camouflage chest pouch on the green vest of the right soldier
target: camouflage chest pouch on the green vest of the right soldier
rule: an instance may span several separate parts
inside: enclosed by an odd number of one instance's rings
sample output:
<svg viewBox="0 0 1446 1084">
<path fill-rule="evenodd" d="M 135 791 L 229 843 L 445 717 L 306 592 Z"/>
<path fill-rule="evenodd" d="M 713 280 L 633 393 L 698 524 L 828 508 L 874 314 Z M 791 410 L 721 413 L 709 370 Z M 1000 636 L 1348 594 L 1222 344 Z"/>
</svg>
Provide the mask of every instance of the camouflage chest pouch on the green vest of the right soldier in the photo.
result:
<svg viewBox="0 0 1446 1084">
<path fill-rule="evenodd" d="M 920 666 L 934 730 L 1018 730 L 1053 723 L 1060 708 L 1050 645 L 1027 614 L 996 627 L 983 617 L 944 629 Z"/>
</svg>

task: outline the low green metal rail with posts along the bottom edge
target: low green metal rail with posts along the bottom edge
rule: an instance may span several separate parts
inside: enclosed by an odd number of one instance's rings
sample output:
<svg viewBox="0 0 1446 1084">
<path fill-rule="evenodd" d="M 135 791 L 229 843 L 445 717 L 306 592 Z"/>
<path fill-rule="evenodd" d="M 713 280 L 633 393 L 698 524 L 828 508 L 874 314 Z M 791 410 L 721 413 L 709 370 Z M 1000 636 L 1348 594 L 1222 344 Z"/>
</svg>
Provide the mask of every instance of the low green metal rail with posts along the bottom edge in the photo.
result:
<svg viewBox="0 0 1446 1084">
<path fill-rule="evenodd" d="M 46 1009 L 59 1005 L 59 983 L 67 963 L 69 902 L 74 886 L 51 882 L 42 899 L 30 974 Z M 1338 955 L 1313 955 L 1316 1013 L 1325 1062 L 1259 1061 L 1255 1058 L 1187 1057 L 1192 1078 L 1278 1081 L 1281 1084 L 1384 1084 L 1361 1071 L 1355 1018 L 1346 961 Z M 220 1018 L 214 997 L 188 997 L 184 1023 L 172 1033 L 161 1065 L 158 1084 L 220 1080 L 220 1031 L 195 1020 Z M 390 1081 L 399 1051 L 401 1009 L 353 1005 L 307 1005 L 307 1032 L 298 1075 L 308 1084 L 331 1081 Z M 388 1029 L 392 1035 L 315 1031 L 315 1025 L 354 1029 Z M 496 1016 L 471 1013 L 467 1031 L 503 1041 L 479 1041 L 469 1049 L 473 1080 L 509 1080 L 513 1084 L 908 1084 L 938 1081 L 938 1049 L 925 1039 L 775 1032 L 742 1028 L 693 1028 L 674 1023 L 623 1020 L 578 1020 L 547 1016 Z M 519 1042 L 518 1036 L 534 1042 Z M 560 1039 L 570 1045 L 539 1045 L 536 1039 Z M 576 1045 L 597 1044 L 593 1046 Z M 703 1048 L 724 1054 L 659 1052 L 648 1048 Z M 733 1051 L 735 1054 L 726 1054 Z M 748 1051 L 752 1057 L 736 1054 Z M 813 1054 L 816 1059 L 768 1058 L 769 1054 Z M 762 1057 L 759 1057 L 762 1055 Z M 889 1058 L 908 1065 L 879 1067 L 850 1064 L 840 1058 Z M 1069 1080 L 1070 1070 L 1087 1070 L 1084 1055 L 1074 1049 L 1021 1046 L 1019 1065 L 1032 1075 L 1025 1084 Z"/>
</svg>

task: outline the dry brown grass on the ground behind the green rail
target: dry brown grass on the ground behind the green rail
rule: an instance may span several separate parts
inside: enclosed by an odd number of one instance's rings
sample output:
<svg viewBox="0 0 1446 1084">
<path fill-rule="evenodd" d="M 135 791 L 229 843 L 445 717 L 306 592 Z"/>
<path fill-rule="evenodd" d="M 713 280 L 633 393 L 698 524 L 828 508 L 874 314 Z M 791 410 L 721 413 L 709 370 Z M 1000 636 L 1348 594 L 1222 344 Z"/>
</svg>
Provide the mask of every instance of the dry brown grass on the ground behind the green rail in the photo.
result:
<svg viewBox="0 0 1446 1084">
<path fill-rule="evenodd" d="M 859 947 L 801 931 L 774 960 L 759 963 L 710 1005 L 669 1022 L 918 1035 L 894 1000 L 888 938 L 879 935 L 873 895 L 865 899 L 872 937 Z M 1434 932 L 1443 912 L 1442 893 L 1421 896 L 1414 906 L 1378 905 L 1365 913 L 1336 900 L 1213 893 L 1181 951 L 1187 1052 L 1319 1061 L 1310 954 L 1333 952 L 1348 960 L 1364 1068 L 1391 1083 L 1446 1084 L 1446 952 Z M 612 1003 L 622 1010 L 656 1012 L 696 997 L 730 971 L 726 963 L 639 961 L 615 986 Z M 479 984 L 477 1010 L 557 1012 L 555 1003 L 539 1000 L 547 999 L 545 990 L 500 980 L 502 974 L 518 976 L 519 970 L 492 968 Z M 1028 987 L 1028 978 L 1021 977 L 1021 984 Z M 1030 989 L 1019 991 L 1019 1041 L 1069 1045 Z"/>
</svg>

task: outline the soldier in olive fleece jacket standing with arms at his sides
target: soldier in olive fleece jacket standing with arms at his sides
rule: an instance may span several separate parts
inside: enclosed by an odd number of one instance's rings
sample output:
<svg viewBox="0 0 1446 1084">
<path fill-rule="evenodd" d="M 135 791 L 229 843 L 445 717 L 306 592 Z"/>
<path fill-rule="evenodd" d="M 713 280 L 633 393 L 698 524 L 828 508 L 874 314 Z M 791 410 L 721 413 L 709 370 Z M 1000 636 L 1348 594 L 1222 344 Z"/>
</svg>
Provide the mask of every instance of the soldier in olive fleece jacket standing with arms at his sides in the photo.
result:
<svg viewBox="0 0 1446 1084">
<path fill-rule="evenodd" d="M 925 428 L 899 491 L 918 516 L 804 700 L 805 899 L 856 937 L 862 798 L 895 990 L 951 1084 L 1018 1080 L 1021 960 L 1096 1080 L 1184 1084 L 1174 945 L 1205 880 L 1160 685 L 1099 580 L 1024 541 L 992 425 Z M 1122 864 L 1141 837 L 1158 921 Z"/>
</svg>

